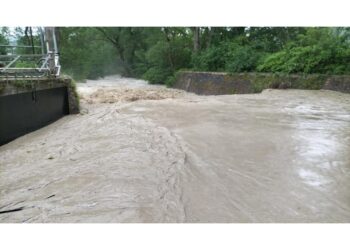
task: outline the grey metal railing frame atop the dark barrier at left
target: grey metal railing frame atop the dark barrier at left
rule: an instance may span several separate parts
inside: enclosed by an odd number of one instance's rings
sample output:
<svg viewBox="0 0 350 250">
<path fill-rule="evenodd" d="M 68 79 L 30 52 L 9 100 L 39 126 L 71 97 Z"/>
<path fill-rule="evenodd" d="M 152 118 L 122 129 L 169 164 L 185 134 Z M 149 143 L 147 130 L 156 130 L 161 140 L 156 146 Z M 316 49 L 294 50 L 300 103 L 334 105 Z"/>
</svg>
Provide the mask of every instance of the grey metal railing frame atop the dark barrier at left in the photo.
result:
<svg viewBox="0 0 350 250">
<path fill-rule="evenodd" d="M 28 28 L 31 36 L 30 45 L 0 44 L 0 48 L 6 50 L 6 55 L 0 55 L 0 78 L 58 77 L 61 66 L 55 28 L 38 28 L 40 46 L 34 45 L 32 29 Z M 15 51 L 19 48 L 31 48 L 32 54 L 17 54 Z M 40 49 L 41 53 L 37 54 L 35 49 Z M 24 66 L 18 67 L 19 62 L 23 62 Z"/>
</svg>

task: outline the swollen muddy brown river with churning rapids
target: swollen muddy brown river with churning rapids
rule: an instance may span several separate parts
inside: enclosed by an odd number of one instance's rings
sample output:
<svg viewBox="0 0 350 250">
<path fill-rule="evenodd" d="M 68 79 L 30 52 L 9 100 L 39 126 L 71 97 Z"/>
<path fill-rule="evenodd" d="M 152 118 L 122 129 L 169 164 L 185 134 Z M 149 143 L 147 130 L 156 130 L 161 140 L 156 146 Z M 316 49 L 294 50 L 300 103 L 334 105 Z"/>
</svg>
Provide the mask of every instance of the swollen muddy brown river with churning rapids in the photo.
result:
<svg viewBox="0 0 350 250">
<path fill-rule="evenodd" d="M 350 222 L 350 95 L 78 86 L 0 147 L 0 222 Z"/>
</svg>

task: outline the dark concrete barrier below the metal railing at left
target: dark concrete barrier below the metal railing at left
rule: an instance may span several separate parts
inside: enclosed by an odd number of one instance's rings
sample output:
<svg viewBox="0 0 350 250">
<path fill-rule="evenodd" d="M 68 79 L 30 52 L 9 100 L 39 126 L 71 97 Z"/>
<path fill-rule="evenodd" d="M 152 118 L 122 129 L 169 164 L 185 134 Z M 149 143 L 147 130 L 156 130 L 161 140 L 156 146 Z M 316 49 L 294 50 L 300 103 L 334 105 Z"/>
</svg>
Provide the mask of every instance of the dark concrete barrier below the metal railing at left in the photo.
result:
<svg viewBox="0 0 350 250">
<path fill-rule="evenodd" d="M 77 112 L 70 79 L 0 80 L 0 145 Z"/>
</svg>

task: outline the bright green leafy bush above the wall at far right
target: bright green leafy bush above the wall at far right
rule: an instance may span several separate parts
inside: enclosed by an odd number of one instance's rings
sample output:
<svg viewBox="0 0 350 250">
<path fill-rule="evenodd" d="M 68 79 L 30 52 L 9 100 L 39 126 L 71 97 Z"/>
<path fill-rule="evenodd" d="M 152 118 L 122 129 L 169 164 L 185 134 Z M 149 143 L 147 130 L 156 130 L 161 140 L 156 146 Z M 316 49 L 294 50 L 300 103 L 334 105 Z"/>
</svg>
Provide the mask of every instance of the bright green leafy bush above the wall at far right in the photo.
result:
<svg viewBox="0 0 350 250">
<path fill-rule="evenodd" d="M 267 56 L 261 72 L 349 74 L 350 46 L 322 30 L 310 30 L 280 52 Z"/>
</svg>

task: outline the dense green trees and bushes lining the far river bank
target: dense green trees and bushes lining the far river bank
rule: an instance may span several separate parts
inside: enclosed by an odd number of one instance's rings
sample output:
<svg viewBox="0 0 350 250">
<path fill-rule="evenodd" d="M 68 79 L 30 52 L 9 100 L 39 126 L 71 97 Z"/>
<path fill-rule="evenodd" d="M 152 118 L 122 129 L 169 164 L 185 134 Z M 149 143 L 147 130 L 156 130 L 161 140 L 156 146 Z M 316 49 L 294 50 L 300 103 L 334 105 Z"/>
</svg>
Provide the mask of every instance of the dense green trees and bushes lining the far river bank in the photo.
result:
<svg viewBox="0 0 350 250">
<path fill-rule="evenodd" d="M 182 69 L 350 74 L 349 28 L 60 27 L 58 33 L 63 72 L 76 79 L 119 73 L 171 84 Z M 0 42 L 6 42 L 1 32 Z"/>
</svg>

